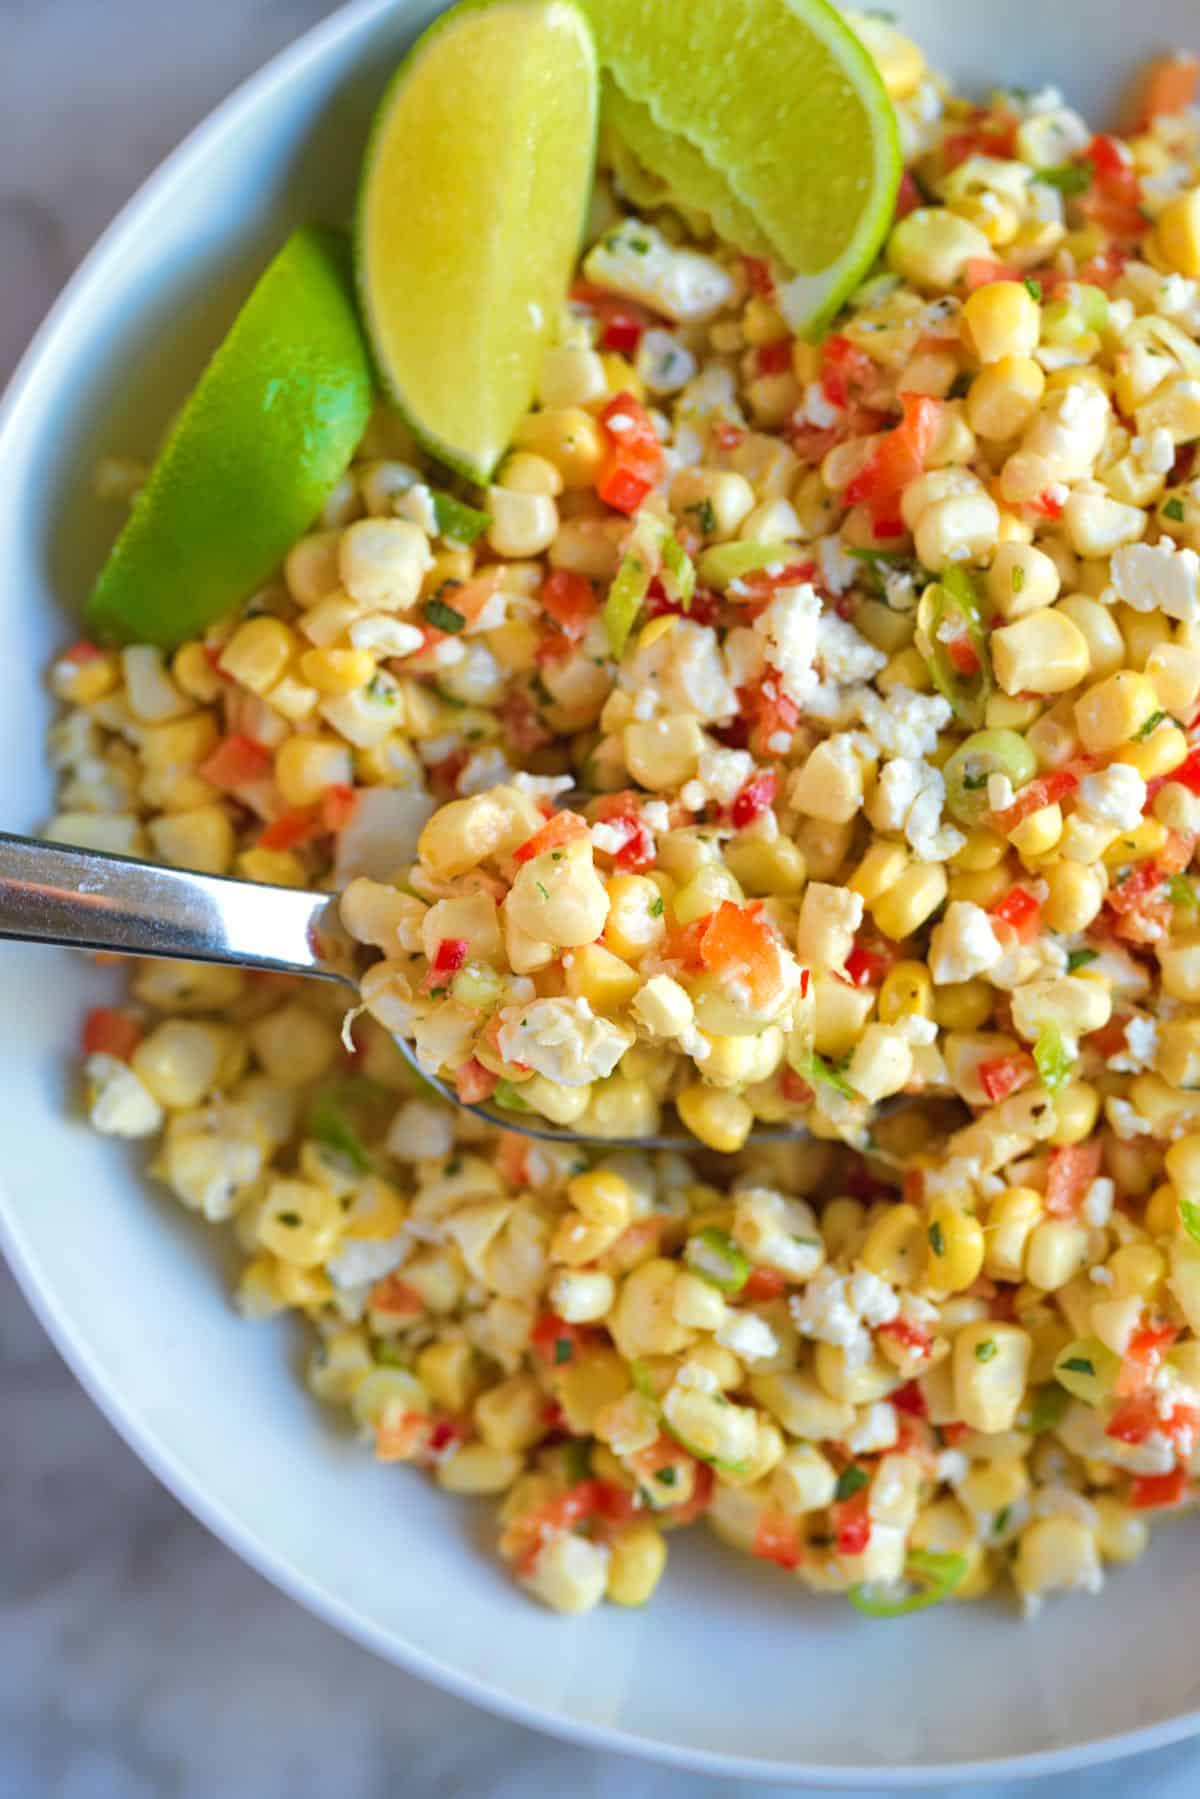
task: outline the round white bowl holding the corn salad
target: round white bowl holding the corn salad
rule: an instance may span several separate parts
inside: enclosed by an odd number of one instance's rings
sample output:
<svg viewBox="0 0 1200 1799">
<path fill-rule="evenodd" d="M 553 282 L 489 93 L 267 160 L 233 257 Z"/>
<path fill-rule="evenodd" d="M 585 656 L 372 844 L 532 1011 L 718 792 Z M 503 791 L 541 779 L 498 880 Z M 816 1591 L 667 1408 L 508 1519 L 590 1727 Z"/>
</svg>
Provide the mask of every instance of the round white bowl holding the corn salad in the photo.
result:
<svg viewBox="0 0 1200 1799">
<path fill-rule="evenodd" d="M 1195 0 L 909 0 L 975 88 L 1058 83 L 1103 119 L 1144 56 L 1198 43 Z M 49 808 L 40 669 L 112 513 L 101 448 L 144 450 L 284 232 L 347 218 L 372 101 L 437 0 L 362 0 L 219 108 L 70 282 L 0 414 L 2 824 Z M 299 1338 L 243 1324 L 223 1249 L 72 1115 L 72 1043 L 108 971 L 0 950 L 7 1254 L 79 1380 L 160 1479 L 322 1617 L 455 1693 L 576 1741 L 705 1772 L 892 1788 L 1034 1774 L 1200 1729 L 1193 1527 L 1036 1628 L 1002 1607 L 869 1623 L 775 1571 L 680 1542 L 646 1612 L 569 1623 L 489 1554 L 489 1509 L 374 1466 L 295 1378 Z"/>
</svg>

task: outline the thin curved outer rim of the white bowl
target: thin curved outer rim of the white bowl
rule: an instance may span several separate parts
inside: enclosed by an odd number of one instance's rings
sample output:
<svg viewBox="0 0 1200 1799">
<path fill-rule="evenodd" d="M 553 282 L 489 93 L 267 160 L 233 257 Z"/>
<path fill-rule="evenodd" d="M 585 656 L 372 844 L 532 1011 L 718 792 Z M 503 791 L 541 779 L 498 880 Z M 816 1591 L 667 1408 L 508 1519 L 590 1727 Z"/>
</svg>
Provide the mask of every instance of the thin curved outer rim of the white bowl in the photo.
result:
<svg viewBox="0 0 1200 1799">
<path fill-rule="evenodd" d="M 320 63 L 326 54 L 342 47 L 347 40 L 371 32 L 376 23 L 389 13 L 403 7 L 403 4 L 405 0 L 347 0 L 347 4 L 336 7 L 327 18 L 318 20 L 293 43 L 286 45 L 261 68 L 243 79 L 146 176 L 67 279 L 0 394 L 0 457 L 4 455 L 5 443 L 22 430 L 27 407 L 32 408 L 36 405 L 41 363 L 45 358 L 54 356 L 56 340 L 67 329 L 70 317 L 77 309 L 86 308 L 92 291 L 103 284 L 108 266 L 119 261 L 124 245 L 139 236 L 146 218 L 167 201 L 175 189 L 184 187 L 191 180 L 193 164 L 201 160 L 225 137 L 234 135 L 243 117 L 266 101 L 272 92 L 286 88 L 300 70 Z M 372 1624 L 353 1605 L 326 1592 L 315 1580 L 288 1565 L 266 1538 L 246 1527 L 230 1509 L 205 1493 L 203 1484 L 178 1464 L 157 1436 L 128 1414 L 117 1383 L 95 1367 L 88 1346 L 67 1308 L 56 1297 L 54 1288 L 36 1270 L 34 1259 L 22 1240 L 20 1222 L 9 1213 L 7 1189 L 2 1182 L 0 1250 L 34 1317 L 83 1391 L 133 1454 L 149 1468 L 155 1479 L 205 1529 L 277 1590 L 351 1641 L 380 1655 L 383 1660 L 403 1668 L 407 1673 L 428 1680 L 455 1698 L 479 1705 L 482 1711 L 506 1722 L 525 1725 L 581 1749 L 637 1756 L 694 1774 L 739 1777 L 765 1785 L 790 1783 L 793 1786 L 835 1790 L 873 1785 L 883 1772 L 887 1772 L 892 1790 L 948 1786 L 964 1781 L 1033 1779 L 1045 1774 L 1065 1774 L 1097 1767 L 1099 1763 L 1153 1749 L 1166 1749 L 1171 1743 L 1180 1743 L 1200 1734 L 1200 1709 L 1195 1709 L 1182 1711 L 1157 1723 L 1117 1731 L 1112 1736 L 1097 1736 L 1060 1749 L 1031 1750 L 1029 1754 L 941 1761 L 925 1767 L 919 1763 L 907 1767 L 887 1767 L 885 1763 L 829 1765 L 756 1759 L 718 1750 L 689 1749 L 684 1743 L 640 1736 L 619 1725 L 601 1725 L 572 1718 L 569 1713 L 549 1705 L 538 1705 L 502 1693 L 486 1680 L 464 1675 L 417 1644 Z"/>
</svg>

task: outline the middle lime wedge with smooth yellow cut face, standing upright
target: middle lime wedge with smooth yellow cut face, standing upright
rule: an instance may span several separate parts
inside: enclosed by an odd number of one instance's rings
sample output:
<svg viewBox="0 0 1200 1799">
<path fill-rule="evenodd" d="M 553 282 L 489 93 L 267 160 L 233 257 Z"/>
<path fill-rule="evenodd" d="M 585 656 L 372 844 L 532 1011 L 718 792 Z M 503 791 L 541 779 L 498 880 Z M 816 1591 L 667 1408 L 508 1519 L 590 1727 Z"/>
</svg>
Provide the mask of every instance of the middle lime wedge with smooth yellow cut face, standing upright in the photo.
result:
<svg viewBox="0 0 1200 1799">
<path fill-rule="evenodd" d="M 592 187 L 597 77 L 569 0 L 453 7 L 383 95 L 358 290 L 421 444 L 486 482 L 533 401 Z"/>
</svg>

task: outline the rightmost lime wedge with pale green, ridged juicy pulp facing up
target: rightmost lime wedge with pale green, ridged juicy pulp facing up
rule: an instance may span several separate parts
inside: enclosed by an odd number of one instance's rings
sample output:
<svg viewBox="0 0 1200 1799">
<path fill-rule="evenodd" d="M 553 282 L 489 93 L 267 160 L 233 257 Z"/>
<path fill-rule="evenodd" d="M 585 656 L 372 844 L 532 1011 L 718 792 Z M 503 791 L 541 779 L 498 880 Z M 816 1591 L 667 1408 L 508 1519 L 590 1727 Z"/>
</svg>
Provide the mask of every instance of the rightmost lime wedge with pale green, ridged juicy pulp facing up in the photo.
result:
<svg viewBox="0 0 1200 1799">
<path fill-rule="evenodd" d="M 721 173 L 792 270 L 792 327 L 828 318 L 874 259 L 901 175 L 862 43 L 828 0 L 585 4 L 622 94 Z"/>
</svg>

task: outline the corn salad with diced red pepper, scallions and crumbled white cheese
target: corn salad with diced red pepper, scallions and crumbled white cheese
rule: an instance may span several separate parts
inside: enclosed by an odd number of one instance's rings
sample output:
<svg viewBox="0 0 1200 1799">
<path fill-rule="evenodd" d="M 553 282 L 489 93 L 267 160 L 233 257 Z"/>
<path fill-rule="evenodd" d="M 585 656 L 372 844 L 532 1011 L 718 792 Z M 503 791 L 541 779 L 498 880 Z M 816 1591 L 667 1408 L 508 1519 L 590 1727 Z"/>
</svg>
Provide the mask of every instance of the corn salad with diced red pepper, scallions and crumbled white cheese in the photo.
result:
<svg viewBox="0 0 1200 1799">
<path fill-rule="evenodd" d="M 820 342 L 612 144 L 491 488 L 380 414 L 236 617 L 50 675 L 47 835 L 338 891 L 374 957 L 347 1036 L 140 968 L 92 1123 L 561 1612 L 698 1518 L 874 1616 L 1034 1610 L 1195 1502 L 1196 70 L 1110 137 L 856 29 L 909 171 Z M 390 1033 L 696 1151 L 493 1130 Z"/>
</svg>

